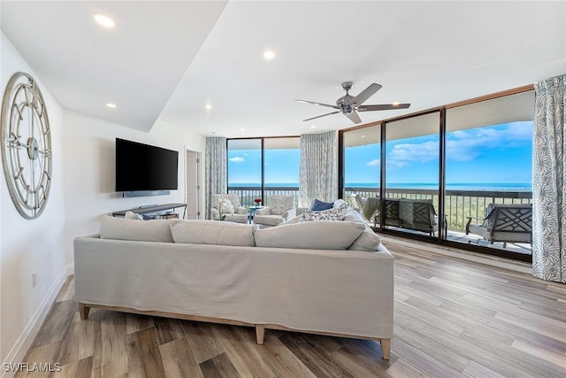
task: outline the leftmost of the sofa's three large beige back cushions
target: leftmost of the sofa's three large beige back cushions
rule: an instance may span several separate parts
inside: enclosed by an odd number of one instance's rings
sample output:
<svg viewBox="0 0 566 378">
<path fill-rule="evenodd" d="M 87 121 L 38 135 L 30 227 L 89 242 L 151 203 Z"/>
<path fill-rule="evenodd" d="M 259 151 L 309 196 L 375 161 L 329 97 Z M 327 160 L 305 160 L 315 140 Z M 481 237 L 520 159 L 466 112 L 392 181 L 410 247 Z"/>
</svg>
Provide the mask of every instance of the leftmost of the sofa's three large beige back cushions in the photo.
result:
<svg viewBox="0 0 566 378">
<path fill-rule="evenodd" d="M 100 224 L 100 238 L 172 243 L 169 225 L 174 221 L 177 220 L 127 220 L 106 216 Z"/>
</svg>

